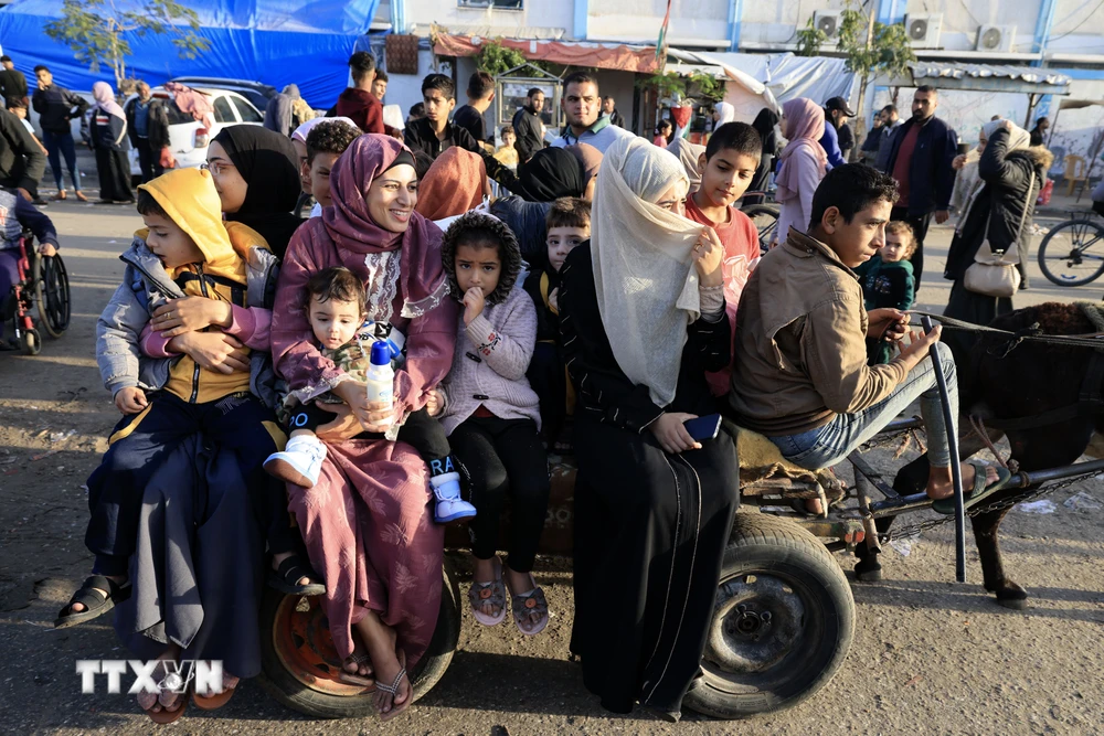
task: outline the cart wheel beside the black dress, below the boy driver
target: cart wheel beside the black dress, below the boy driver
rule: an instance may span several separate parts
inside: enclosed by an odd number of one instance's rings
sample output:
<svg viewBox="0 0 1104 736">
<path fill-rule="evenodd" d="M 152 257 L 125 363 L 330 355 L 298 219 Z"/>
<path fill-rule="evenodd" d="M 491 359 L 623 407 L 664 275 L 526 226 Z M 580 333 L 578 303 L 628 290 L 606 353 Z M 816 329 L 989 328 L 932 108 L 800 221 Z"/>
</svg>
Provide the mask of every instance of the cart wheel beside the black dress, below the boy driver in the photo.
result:
<svg viewBox="0 0 1104 736">
<path fill-rule="evenodd" d="M 854 600 L 815 536 L 767 514 L 737 513 L 724 551 L 704 675 L 688 707 L 743 718 L 792 707 L 824 687 L 854 634 Z"/>
</svg>

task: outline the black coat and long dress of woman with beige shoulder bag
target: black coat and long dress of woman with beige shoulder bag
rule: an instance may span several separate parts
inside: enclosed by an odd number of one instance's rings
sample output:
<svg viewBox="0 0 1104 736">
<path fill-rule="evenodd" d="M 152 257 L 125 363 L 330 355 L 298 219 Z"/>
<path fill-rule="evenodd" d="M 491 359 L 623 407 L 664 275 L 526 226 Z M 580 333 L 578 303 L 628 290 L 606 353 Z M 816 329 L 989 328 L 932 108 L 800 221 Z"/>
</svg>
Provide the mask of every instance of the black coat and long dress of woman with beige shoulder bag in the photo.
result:
<svg viewBox="0 0 1104 736">
<path fill-rule="evenodd" d="M 974 264 L 978 248 L 987 236 L 994 252 L 1007 248 L 1017 248 L 1021 253 L 1026 250 L 1023 239 L 1030 238 L 1026 230 L 1031 222 L 1036 195 L 1044 173 L 1033 151 L 1009 152 L 1008 131 L 997 130 L 978 162 L 978 175 L 985 186 L 966 213 L 966 222 L 955 233 L 947 253 L 943 276 L 953 280 L 954 285 L 943 313 L 975 324 L 988 324 L 999 314 L 1012 311 L 1012 300 L 967 290 L 963 282 L 966 269 Z M 1027 213 L 1023 212 L 1025 203 Z M 1021 223 L 1025 225 L 1022 228 Z M 956 354 L 965 354 L 969 350 L 969 335 L 966 333 L 952 331 L 944 339 Z"/>
</svg>

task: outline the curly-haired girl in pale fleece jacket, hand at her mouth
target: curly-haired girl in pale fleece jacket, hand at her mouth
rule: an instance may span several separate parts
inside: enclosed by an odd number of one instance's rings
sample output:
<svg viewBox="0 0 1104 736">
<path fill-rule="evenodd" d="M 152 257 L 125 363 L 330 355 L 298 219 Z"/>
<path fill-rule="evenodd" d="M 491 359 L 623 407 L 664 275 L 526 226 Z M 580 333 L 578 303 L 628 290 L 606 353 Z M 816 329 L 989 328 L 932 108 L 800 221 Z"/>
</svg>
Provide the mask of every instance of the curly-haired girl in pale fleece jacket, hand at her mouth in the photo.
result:
<svg viewBox="0 0 1104 736">
<path fill-rule="evenodd" d="M 532 576 L 549 502 L 548 456 L 540 440 L 540 399 L 526 371 L 537 344 L 537 309 L 517 282 L 521 249 L 501 221 L 470 212 L 442 244 L 449 291 L 463 302 L 453 369 L 431 398 L 467 477 L 478 513 L 469 524 L 475 574 L 468 600 L 476 619 L 506 618 L 527 636 L 544 629 L 548 601 Z M 509 492 L 511 529 L 503 565 L 495 556 Z"/>
</svg>

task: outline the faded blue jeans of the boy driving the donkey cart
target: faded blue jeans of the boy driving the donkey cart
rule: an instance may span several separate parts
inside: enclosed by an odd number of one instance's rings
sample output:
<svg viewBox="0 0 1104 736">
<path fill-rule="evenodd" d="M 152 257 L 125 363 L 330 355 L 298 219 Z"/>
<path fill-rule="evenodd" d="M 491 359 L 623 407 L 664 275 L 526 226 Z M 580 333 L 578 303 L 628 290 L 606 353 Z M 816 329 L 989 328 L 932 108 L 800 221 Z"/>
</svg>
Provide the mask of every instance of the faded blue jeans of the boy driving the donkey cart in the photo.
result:
<svg viewBox="0 0 1104 736">
<path fill-rule="evenodd" d="M 955 377 L 955 361 L 951 349 L 936 343 L 943 375 L 947 378 L 947 396 L 951 399 L 951 415 L 958 416 L 958 381 Z M 837 414 L 822 427 L 799 435 L 771 437 L 784 458 L 794 465 L 810 470 L 829 468 L 847 458 L 856 448 L 881 431 L 901 412 L 920 398 L 920 413 L 927 429 L 927 459 L 935 468 L 951 466 L 951 446 L 947 444 L 946 423 L 940 388 L 935 382 L 935 369 L 931 359 L 914 367 L 909 376 L 888 398 L 854 414 Z"/>
</svg>

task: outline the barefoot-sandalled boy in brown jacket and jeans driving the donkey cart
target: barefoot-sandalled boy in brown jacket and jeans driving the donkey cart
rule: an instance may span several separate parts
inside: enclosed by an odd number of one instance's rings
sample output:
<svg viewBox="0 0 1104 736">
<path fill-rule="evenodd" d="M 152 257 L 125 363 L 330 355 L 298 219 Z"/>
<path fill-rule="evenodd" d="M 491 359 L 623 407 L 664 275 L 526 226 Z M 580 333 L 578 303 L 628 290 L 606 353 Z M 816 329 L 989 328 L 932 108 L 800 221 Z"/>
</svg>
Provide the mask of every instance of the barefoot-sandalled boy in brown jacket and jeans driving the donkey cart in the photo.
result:
<svg viewBox="0 0 1104 736">
<path fill-rule="evenodd" d="M 900 340 L 907 316 L 867 312 L 851 270 L 884 245 L 896 200 L 892 178 L 861 164 L 832 169 L 813 198 L 808 234 L 792 228 L 760 260 L 740 301 L 731 408 L 736 422 L 766 435 L 783 457 L 810 470 L 842 461 L 920 399 L 931 465 L 926 492 L 935 511 L 954 512 L 951 450 L 928 349 L 936 345 L 958 415 L 958 386 L 941 328 L 914 335 L 885 365 L 867 365 L 866 339 Z M 963 465 L 966 505 L 1008 481 L 1008 471 Z M 820 513 L 819 502 L 810 511 Z"/>
</svg>

